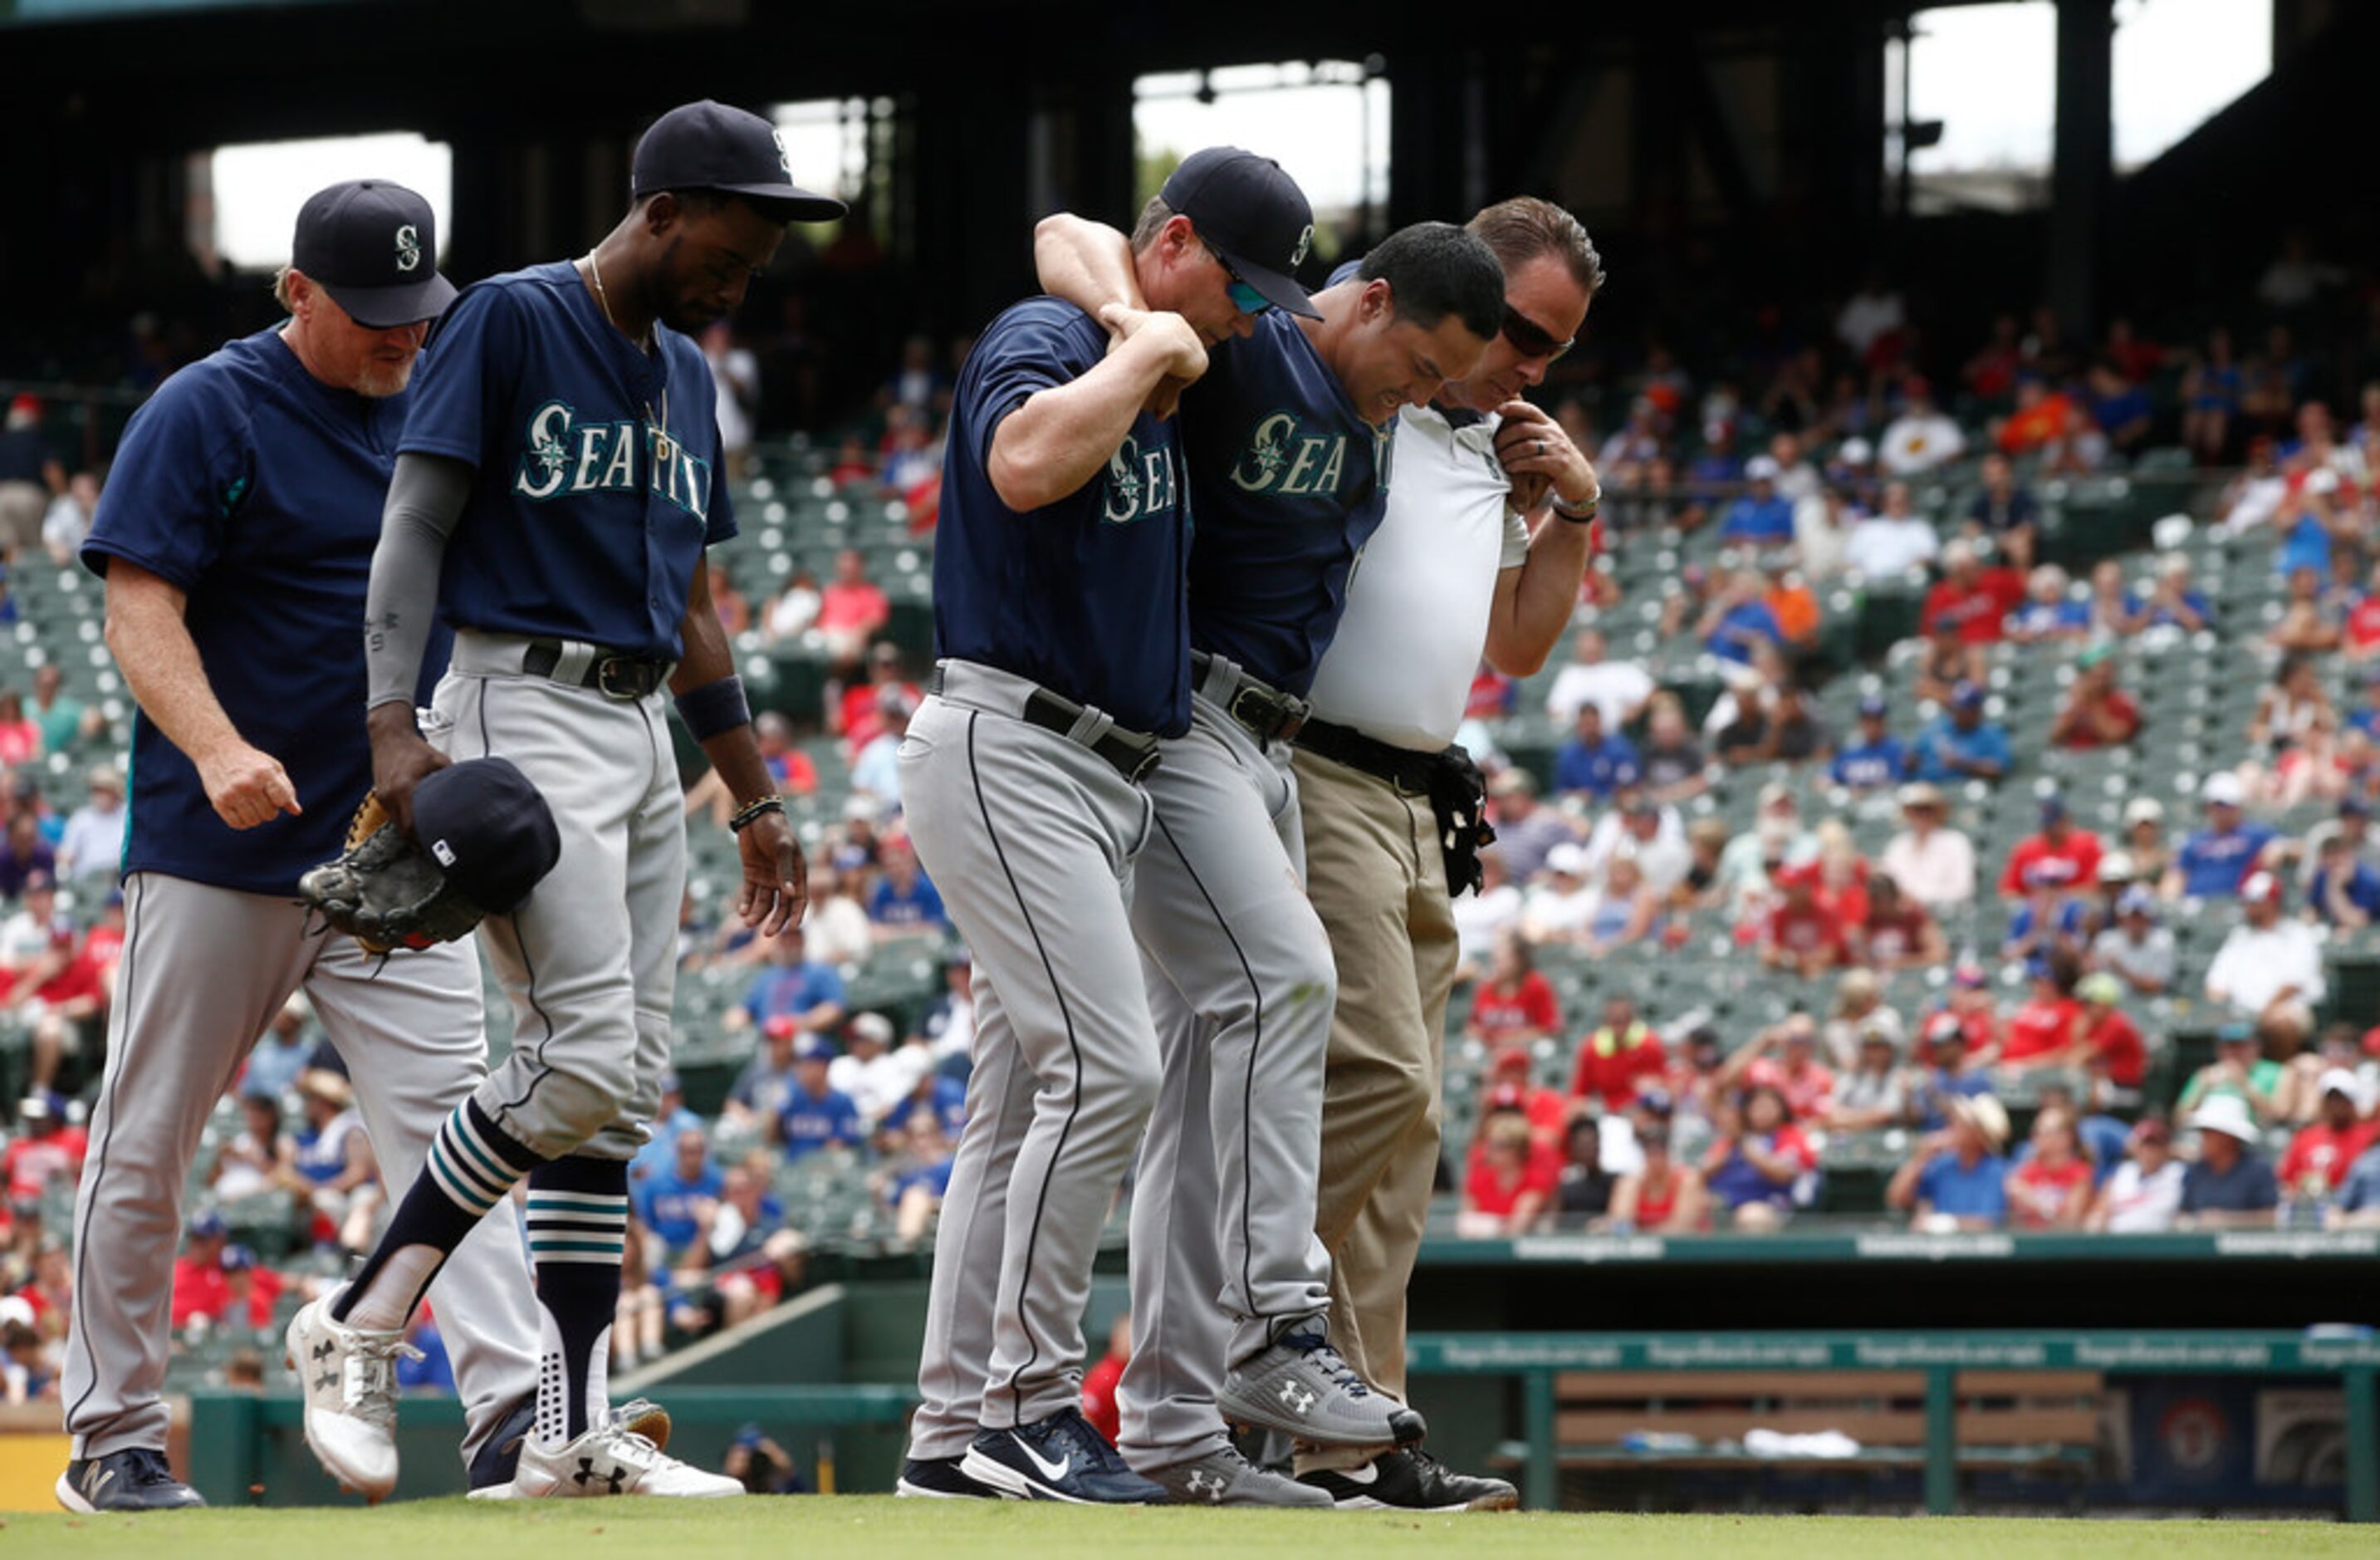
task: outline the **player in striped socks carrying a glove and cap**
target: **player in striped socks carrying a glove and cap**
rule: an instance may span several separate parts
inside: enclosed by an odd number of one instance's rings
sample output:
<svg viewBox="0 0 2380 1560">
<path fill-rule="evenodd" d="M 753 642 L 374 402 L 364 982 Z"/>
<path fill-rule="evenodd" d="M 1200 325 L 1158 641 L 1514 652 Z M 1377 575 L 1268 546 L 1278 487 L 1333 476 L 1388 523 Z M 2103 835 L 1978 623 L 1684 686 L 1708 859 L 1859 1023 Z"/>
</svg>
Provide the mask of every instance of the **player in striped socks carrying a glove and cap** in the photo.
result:
<svg viewBox="0 0 2380 1560">
<path fill-rule="evenodd" d="M 290 1322 L 290 1350 L 369 1360 L 447 1253 L 528 1181 L 538 1410 L 514 1479 L 483 1496 L 743 1493 L 614 1422 L 605 1360 L 628 1157 L 669 1062 L 685 879 L 664 684 L 738 803 L 745 924 L 776 936 L 804 898 L 700 567 L 735 519 L 690 333 L 735 310 L 788 221 L 840 217 L 843 202 L 788 183 L 769 121 L 716 102 L 645 131 L 633 198 L 581 260 L 455 300 L 397 445 L 367 603 L 381 800 L 409 824 L 424 774 L 502 755 L 543 793 L 562 848 L 516 912 L 481 924 L 519 1015 L 512 1055 L 447 1115 L 355 1281 Z M 455 660 L 416 729 L 433 619 L 455 629 Z M 345 1393 L 317 1379 L 317 1455 L 393 1479 L 383 1379 Z"/>
</svg>

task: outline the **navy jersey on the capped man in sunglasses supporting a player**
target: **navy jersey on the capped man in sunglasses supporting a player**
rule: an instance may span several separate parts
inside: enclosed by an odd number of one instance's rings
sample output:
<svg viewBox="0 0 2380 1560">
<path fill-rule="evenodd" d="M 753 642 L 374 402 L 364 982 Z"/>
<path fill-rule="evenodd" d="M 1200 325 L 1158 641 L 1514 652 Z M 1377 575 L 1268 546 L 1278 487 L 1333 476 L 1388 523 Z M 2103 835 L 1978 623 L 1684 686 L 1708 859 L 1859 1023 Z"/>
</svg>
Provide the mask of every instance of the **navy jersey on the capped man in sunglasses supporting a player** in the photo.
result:
<svg viewBox="0 0 2380 1560">
<path fill-rule="evenodd" d="M 1107 469 L 1019 514 L 992 488 L 992 433 L 1035 391 L 1107 357 L 1071 302 L 1031 298 L 995 319 L 959 369 L 933 543 L 935 655 L 1028 676 L 1130 731 L 1190 729 L 1180 445 L 1147 412 Z"/>
</svg>

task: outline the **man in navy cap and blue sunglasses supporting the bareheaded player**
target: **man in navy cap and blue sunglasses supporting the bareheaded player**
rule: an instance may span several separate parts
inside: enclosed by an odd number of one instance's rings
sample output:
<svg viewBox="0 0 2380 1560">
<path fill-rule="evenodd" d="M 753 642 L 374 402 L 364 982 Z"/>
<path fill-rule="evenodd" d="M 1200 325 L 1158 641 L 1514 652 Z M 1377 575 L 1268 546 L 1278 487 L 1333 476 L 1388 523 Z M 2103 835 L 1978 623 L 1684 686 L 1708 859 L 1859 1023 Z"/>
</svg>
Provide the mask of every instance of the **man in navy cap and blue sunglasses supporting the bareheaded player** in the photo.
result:
<svg viewBox="0 0 2380 1560">
<path fill-rule="evenodd" d="M 1188 495 L 1176 429 L 1147 407 L 1250 312 L 1304 307 L 1285 274 L 1304 224 L 1285 176 L 1216 186 L 1128 248 L 1154 312 L 1033 298 L 959 372 L 940 662 L 900 767 L 976 955 L 976 1067 L 904 1496 L 1150 1503 L 1211 1477 L 1133 1474 L 1081 1410 L 1090 1265 L 1159 1084 L 1128 874 L 1159 738 L 1190 726 Z"/>
</svg>

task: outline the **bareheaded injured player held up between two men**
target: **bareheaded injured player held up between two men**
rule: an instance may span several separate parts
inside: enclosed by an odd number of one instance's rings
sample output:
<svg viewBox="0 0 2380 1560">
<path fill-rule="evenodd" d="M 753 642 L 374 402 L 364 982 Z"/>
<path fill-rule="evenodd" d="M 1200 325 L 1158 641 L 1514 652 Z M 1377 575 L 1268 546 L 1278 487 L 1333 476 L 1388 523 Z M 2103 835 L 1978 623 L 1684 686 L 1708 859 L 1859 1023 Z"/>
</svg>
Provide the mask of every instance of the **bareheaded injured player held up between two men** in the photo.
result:
<svg viewBox="0 0 2380 1560">
<path fill-rule="evenodd" d="M 1261 164 L 1202 152 L 1159 193 L 1197 202 Z M 1128 276 L 1092 243 L 1042 279 L 1114 298 Z M 1081 236 L 1081 233 L 1076 233 Z M 1302 241 L 1299 241 L 1302 248 Z M 1164 1093 L 1133 1196 L 1133 1467 L 1214 1462 L 1216 1503 L 1314 1505 L 1314 1491 L 1228 1453 L 1226 1419 L 1311 1443 L 1418 1441 L 1421 1417 L 1364 1386 L 1326 1336 L 1314 1238 L 1323 1060 L 1335 974 L 1304 896 L 1288 738 L 1338 626 L 1347 576 L 1388 498 L 1388 429 L 1468 374 L 1502 322 L 1495 255 L 1461 229 L 1385 238 L 1311 317 L 1266 312 L 1183 395 L 1197 543 L 1192 719 L 1150 779 L 1157 836 L 1133 926 L 1164 1043 Z"/>
</svg>

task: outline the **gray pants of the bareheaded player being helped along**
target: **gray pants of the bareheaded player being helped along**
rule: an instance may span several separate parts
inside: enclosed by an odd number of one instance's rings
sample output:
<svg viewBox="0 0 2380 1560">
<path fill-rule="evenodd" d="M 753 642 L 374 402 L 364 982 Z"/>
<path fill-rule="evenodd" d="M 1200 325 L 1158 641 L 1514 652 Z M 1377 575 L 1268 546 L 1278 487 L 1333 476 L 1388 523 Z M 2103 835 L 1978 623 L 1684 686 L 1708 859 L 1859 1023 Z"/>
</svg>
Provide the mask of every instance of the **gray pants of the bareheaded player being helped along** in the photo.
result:
<svg viewBox="0 0 2380 1560">
<path fill-rule="evenodd" d="M 1223 1439 L 1228 1365 L 1330 1308 L 1314 1236 L 1338 976 L 1307 903 L 1290 750 L 1207 698 L 1150 776 L 1157 831 L 1133 931 L 1164 1088 L 1133 1181 L 1123 1453 L 1164 1467 Z"/>
</svg>

